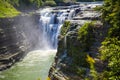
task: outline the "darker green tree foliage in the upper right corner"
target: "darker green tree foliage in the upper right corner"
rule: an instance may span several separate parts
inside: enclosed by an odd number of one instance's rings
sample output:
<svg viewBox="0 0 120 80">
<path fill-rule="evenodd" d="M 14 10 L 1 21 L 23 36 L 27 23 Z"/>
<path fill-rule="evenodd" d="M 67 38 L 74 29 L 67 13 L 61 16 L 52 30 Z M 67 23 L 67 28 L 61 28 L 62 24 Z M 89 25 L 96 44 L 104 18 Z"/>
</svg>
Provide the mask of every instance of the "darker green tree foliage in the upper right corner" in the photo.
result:
<svg viewBox="0 0 120 80">
<path fill-rule="evenodd" d="M 120 2 L 119 0 L 105 0 L 103 7 L 103 19 L 110 24 L 111 28 L 108 32 L 109 37 L 120 38 Z"/>
</svg>

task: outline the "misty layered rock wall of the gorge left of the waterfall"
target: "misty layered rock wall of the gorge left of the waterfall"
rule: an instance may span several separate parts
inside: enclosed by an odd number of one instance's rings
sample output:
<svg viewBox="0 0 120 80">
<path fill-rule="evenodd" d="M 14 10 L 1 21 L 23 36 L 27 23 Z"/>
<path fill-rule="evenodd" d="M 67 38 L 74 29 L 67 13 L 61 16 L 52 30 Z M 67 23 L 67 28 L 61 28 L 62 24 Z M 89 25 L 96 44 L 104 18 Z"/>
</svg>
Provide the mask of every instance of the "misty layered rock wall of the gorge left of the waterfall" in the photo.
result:
<svg viewBox="0 0 120 80">
<path fill-rule="evenodd" d="M 38 28 L 38 15 L 0 19 L 0 70 L 10 67 L 35 47 Z"/>
</svg>

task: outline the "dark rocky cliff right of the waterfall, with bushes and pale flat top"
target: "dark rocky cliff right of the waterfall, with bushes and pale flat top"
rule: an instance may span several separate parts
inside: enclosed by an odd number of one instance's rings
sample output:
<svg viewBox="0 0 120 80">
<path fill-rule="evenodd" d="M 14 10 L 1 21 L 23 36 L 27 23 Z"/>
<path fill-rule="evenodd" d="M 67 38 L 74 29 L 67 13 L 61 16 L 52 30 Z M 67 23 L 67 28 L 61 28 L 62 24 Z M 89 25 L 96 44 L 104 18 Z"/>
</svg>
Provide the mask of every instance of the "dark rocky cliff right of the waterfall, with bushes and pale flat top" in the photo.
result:
<svg viewBox="0 0 120 80">
<path fill-rule="evenodd" d="M 51 80 L 84 80 L 86 77 L 93 80 L 90 64 L 86 60 L 87 55 L 94 58 L 96 71 L 101 72 L 100 68 L 104 66 L 97 56 L 107 28 L 103 27 L 99 16 L 95 18 L 96 15 L 100 14 L 94 11 L 92 13 L 81 11 L 77 15 L 80 18 L 77 20 L 73 18 L 74 20 L 64 23 L 59 36 L 55 62 L 49 71 Z"/>
</svg>

